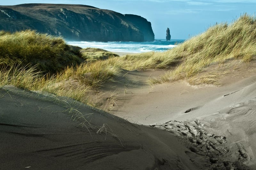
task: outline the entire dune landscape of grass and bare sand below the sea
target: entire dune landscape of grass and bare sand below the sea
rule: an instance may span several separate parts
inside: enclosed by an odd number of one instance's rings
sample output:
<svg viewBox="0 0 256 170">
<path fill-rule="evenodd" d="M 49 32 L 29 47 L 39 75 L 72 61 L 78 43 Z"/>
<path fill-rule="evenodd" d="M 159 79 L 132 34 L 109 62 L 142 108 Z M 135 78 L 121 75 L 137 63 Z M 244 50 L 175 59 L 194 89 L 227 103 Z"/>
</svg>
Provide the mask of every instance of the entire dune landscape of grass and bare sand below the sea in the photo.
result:
<svg viewBox="0 0 256 170">
<path fill-rule="evenodd" d="M 78 67 L 60 38 L 3 32 L 0 169 L 256 169 L 255 23 L 245 13 L 173 50 Z"/>
</svg>

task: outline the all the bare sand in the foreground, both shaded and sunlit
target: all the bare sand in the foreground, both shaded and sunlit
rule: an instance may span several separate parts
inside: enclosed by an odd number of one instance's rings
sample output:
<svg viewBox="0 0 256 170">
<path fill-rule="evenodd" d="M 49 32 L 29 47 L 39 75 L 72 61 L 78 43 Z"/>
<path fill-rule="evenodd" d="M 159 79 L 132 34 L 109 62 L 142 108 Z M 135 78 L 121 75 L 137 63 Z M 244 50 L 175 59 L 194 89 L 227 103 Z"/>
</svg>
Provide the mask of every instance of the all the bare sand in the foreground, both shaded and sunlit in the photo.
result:
<svg viewBox="0 0 256 170">
<path fill-rule="evenodd" d="M 255 169 L 254 72 L 146 83 L 163 72 L 124 71 L 96 95 L 102 110 L 2 87 L 0 169 Z"/>
</svg>

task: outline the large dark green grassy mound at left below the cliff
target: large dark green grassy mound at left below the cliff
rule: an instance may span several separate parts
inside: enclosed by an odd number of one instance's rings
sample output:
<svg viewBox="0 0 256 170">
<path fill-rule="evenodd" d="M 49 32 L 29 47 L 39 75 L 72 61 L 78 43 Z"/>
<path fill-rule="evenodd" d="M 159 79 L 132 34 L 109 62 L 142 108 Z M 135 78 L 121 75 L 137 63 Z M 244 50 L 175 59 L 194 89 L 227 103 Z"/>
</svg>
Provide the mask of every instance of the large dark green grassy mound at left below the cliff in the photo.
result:
<svg viewBox="0 0 256 170">
<path fill-rule="evenodd" d="M 56 73 L 67 65 L 83 61 L 60 37 L 26 30 L 16 33 L 0 32 L 0 66 L 18 63 L 44 73 Z"/>
</svg>

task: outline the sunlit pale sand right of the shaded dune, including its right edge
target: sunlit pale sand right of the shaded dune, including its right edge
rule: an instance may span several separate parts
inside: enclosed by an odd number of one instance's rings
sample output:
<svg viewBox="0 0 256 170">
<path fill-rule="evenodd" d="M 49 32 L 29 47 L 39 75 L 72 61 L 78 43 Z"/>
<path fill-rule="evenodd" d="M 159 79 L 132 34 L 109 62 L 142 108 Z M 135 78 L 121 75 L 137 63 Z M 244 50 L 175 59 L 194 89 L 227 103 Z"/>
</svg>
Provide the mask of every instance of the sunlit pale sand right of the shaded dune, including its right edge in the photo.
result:
<svg viewBox="0 0 256 170">
<path fill-rule="evenodd" d="M 220 87 L 195 87 L 180 81 L 152 88 L 142 82 L 153 73 L 139 72 L 128 75 L 137 78 L 140 75 L 139 85 L 128 88 L 127 95 L 122 95 L 121 88 L 115 102 L 117 107 L 111 113 L 137 124 L 157 123 L 171 129 L 173 126 L 165 122 L 200 120 L 201 128 L 217 138 L 227 139 L 221 145 L 230 151 L 229 161 L 240 166 L 237 160 L 241 160 L 242 164 L 256 168 L 256 76 L 243 78 L 233 73 L 225 78 L 227 85 Z M 185 136 L 188 137 L 187 132 Z"/>
</svg>

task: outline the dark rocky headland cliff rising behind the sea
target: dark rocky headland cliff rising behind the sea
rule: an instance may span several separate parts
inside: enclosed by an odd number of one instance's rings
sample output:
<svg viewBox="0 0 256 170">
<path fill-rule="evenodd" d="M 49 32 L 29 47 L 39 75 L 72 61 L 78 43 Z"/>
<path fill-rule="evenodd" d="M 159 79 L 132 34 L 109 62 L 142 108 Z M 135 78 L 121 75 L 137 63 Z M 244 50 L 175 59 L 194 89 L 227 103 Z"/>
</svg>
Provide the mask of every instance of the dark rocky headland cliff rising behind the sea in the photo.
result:
<svg viewBox="0 0 256 170">
<path fill-rule="evenodd" d="M 151 23 L 86 5 L 21 4 L 0 6 L 0 30 L 24 29 L 73 41 L 154 41 Z"/>
</svg>

